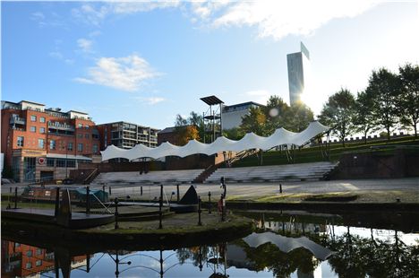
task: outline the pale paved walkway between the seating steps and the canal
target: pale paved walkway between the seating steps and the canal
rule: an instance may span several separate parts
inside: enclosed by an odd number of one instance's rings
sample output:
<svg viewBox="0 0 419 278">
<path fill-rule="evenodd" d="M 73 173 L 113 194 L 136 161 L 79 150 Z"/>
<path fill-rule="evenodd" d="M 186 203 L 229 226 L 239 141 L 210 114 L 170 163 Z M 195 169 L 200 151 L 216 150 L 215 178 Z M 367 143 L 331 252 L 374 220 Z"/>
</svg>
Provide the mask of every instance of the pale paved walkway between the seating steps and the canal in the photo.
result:
<svg viewBox="0 0 419 278">
<path fill-rule="evenodd" d="M 15 187 L 13 185 L 12 187 Z M 17 185 L 19 192 L 26 185 Z M 142 195 L 140 185 L 110 185 L 112 187 L 112 195 L 154 199 L 160 193 L 158 185 L 143 185 Z M 164 185 L 167 199 L 176 199 L 176 186 Z M 213 198 L 219 198 L 222 189 L 218 184 L 197 184 L 194 185 L 198 194 L 202 199 L 206 200 L 209 191 Z M 227 196 L 242 195 L 242 196 L 262 196 L 278 194 L 279 183 L 228 183 L 227 181 Z M 2 193 L 8 193 L 10 185 L 2 186 Z M 72 185 L 71 187 L 86 187 L 83 185 Z M 189 185 L 180 185 L 180 195 L 184 195 Z M 93 186 L 91 188 L 102 188 L 101 186 Z M 106 188 L 108 191 L 108 187 Z M 419 178 L 385 178 L 385 179 L 351 179 L 351 180 L 329 180 L 329 181 L 301 181 L 301 182 L 284 182 L 282 183 L 283 193 L 292 194 L 322 194 L 331 192 L 356 192 L 365 190 L 402 190 L 402 191 L 417 191 L 419 192 Z"/>
</svg>

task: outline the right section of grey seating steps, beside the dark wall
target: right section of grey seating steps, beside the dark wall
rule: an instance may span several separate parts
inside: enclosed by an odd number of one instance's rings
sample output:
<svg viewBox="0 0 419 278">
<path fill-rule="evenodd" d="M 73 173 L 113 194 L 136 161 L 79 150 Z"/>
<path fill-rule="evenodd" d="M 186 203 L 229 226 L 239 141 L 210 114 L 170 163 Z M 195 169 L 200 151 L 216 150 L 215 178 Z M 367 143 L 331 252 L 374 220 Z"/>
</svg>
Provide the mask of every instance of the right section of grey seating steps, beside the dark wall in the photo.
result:
<svg viewBox="0 0 419 278">
<path fill-rule="evenodd" d="M 313 162 L 288 165 L 219 168 L 205 180 L 205 183 L 218 183 L 221 177 L 226 178 L 227 182 L 320 180 L 336 166 L 337 163 Z"/>
</svg>

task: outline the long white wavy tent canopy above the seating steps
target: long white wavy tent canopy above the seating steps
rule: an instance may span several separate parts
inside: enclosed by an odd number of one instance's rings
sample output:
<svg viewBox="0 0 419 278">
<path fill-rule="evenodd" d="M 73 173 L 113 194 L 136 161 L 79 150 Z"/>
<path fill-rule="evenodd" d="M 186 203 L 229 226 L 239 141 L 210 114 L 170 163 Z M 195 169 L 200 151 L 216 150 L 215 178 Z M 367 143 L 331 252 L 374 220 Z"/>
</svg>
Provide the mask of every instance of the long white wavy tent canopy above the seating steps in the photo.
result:
<svg viewBox="0 0 419 278">
<path fill-rule="evenodd" d="M 176 146 L 165 142 L 161 143 L 157 148 L 149 148 L 142 144 L 137 144 L 133 149 L 124 150 L 114 145 L 110 145 L 102 153 L 102 161 L 115 158 L 124 158 L 134 160 L 138 158 L 158 159 L 165 156 L 185 157 L 191 154 L 203 153 L 211 155 L 218 152 L 242 152 L 251 149 L 269 150 L 278 145 L 296 145 L 302 146 L 309 142 L 316 135 L 320 135 L 329 130 L 328 126 L 323 126 L 318 121 L 313 121 L 304 131 L 294 133 L 285 128 L 278 128 L 272 135 L 263 137 L 248 133 L 239 141 L 230 140 L 224 136 L 218 137 L 213 143 L 201 143 L 196 140 L 190 140 L 184 146 Z"/>
</svg>

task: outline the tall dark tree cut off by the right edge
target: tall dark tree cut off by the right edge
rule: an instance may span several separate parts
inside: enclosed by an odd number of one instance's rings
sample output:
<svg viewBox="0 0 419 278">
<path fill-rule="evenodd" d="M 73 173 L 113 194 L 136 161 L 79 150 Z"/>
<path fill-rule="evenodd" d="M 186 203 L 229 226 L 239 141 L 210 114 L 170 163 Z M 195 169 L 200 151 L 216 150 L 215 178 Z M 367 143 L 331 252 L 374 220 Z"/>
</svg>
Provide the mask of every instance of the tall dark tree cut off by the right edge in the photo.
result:
<svg viewBox="0 0 419 278">
<path fill-rule="evenodd" d="M 398 68 L 400 93 L 396 100 L 398 117 L 405 126 L 412 126 L 417 138 L 419 122 L 419 65 L 406 64 Z"/>
</svg>

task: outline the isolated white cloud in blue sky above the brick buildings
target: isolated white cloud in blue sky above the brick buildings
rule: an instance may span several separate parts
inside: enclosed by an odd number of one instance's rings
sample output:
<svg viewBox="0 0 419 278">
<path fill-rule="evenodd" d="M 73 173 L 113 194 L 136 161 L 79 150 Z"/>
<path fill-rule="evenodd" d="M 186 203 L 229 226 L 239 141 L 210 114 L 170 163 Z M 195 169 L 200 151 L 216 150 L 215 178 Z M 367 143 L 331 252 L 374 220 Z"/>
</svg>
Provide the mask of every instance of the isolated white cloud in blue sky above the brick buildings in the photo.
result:
<svg viewBox="0 0 419 278">
<path fill-rule="evenodd" d="M 143 82 L 158 75 L 145 59 L 133 54 L 126 57 L 101 57 L 95 66 L 88 69 L 87 77 L 78 77 L 74 81 L 123 91 L 138 91 Z"/>
</svg>

